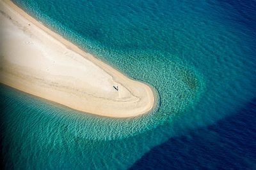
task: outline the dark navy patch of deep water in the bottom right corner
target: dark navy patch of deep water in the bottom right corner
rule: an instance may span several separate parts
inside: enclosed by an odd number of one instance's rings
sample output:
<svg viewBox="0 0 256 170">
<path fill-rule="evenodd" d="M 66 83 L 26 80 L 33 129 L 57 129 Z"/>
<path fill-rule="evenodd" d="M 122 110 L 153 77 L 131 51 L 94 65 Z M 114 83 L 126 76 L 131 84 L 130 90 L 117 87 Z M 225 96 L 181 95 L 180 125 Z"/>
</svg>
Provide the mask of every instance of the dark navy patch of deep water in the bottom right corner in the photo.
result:
<svg viewBox="0 0 256 170">
<path fill-rule="evenodd" d="M 131 169 L 255 169 L 256 98 L 216 124 L 152 148 Z"/>
</svg>

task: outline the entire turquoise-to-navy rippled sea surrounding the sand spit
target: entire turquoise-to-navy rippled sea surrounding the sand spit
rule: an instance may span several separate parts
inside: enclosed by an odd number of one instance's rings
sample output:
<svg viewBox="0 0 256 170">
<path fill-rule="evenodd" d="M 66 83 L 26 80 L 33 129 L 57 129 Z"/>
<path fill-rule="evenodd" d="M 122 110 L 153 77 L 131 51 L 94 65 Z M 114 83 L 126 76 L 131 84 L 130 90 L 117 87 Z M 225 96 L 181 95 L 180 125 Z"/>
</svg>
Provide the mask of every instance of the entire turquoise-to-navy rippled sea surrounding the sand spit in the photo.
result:
<svg viewBox="0 0 256 170">
<path fill-rule="evenodd" d="M 159 97 L 104 118 L 1 85 L 4 169 L 256 169 L 256 1 L 13 2 Z"/>
</svg>

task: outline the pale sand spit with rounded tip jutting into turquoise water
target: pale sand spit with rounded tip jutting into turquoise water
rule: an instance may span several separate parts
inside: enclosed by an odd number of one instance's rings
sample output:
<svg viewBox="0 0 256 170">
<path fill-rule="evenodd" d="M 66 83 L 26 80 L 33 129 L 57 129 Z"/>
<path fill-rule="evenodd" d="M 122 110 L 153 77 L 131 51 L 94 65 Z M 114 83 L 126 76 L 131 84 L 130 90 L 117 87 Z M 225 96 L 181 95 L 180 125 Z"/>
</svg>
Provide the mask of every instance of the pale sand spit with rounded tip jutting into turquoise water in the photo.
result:
<svg viewBox="0 0 256 170">
<path fill-rule="evenodd" d="M 106 117 L 152 110 L 154 94 L 148 85 L 80 50 L 11 1 L 1 0 L 0 10 L 1 83 Z"/>
</svg>

